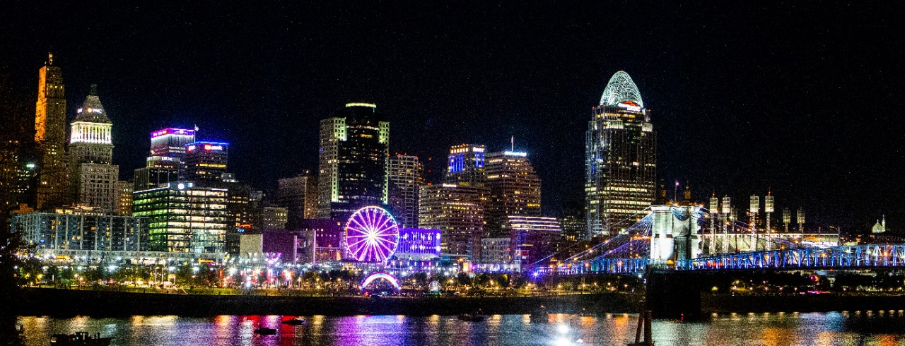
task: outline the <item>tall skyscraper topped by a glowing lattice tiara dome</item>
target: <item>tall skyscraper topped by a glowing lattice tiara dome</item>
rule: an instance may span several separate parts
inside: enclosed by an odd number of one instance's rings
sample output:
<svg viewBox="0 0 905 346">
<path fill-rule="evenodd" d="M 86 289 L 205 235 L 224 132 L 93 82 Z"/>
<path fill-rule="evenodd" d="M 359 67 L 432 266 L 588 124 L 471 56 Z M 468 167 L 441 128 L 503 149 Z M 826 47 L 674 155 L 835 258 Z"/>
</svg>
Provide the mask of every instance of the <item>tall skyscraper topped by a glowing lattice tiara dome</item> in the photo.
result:
<svg viewBox="0 0 905 346">
<path fill-rule="evenodd" d="M 656 193 L 656 141 L 650 110 L 632 78 L 618 71 L 593 108 L 586 132 L 588 238 L 631 226 Z"/>
</svg>

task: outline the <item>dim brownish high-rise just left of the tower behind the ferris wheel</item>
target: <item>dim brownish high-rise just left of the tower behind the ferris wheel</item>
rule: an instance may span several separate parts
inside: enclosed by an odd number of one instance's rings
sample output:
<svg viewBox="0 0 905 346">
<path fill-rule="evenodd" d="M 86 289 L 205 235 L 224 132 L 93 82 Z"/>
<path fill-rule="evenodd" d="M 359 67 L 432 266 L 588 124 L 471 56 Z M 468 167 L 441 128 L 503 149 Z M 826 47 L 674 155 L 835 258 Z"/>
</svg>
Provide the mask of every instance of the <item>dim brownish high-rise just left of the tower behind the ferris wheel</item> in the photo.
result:
<svg viewBox="0 0 905 346">
<path fill-rule="evenodd" d="M 318 217 L 318 176 L 305 171 L 278 181 L 277 199 L 289 210 L 287 228 L 296 229 L 301 220 Z"/>
</svg>

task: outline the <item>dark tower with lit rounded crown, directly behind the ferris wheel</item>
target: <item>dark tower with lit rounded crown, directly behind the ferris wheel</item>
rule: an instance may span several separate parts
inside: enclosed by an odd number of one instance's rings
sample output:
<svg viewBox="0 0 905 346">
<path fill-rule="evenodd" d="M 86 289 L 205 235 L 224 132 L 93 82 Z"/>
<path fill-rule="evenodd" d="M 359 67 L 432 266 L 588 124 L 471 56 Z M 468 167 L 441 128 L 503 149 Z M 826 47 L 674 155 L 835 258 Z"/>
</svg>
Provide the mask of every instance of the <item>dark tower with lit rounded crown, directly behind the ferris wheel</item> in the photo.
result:
<svg viewBox="0 0 905 346">
<path fill-rule="evenodd" d="M 320 121 L 318 217 L 344 220 L 386 204 L 389 122 L 370 103 L 348 103 Z"/>
</svg>

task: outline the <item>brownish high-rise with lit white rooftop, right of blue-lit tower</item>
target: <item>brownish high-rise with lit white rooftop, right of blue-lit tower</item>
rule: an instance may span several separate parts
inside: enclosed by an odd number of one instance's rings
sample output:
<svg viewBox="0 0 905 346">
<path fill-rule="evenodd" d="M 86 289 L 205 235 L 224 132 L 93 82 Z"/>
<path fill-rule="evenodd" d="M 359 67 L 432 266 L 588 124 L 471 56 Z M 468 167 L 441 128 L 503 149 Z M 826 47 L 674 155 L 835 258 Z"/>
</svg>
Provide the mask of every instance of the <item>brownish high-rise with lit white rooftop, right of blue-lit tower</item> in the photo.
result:
<svg viewBox="0 0 905 346">
<path fill-rule="evenodd" d="M 540 216 L 540 178 L 522 152 L 490 153 L 485 163 L 489 197 L 484 236 L 505 237 L 502 227 L 508 217 Z"/>
</svg>

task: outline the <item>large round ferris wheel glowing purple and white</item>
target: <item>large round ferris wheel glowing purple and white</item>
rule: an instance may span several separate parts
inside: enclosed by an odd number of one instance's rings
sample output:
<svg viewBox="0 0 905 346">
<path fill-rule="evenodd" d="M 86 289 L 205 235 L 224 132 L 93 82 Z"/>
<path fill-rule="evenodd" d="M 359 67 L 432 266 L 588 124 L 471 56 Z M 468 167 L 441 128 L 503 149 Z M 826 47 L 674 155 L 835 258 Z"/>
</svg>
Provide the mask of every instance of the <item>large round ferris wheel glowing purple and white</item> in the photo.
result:
<svg viewBox="0 0 905 346">
<path fill-rule="evenodd" d="M 399 245 L 399 225 L 383 208 L 356 210 L 346 222 L 346 246 L 359 262 L 383 262 Z"/>
</svg>

